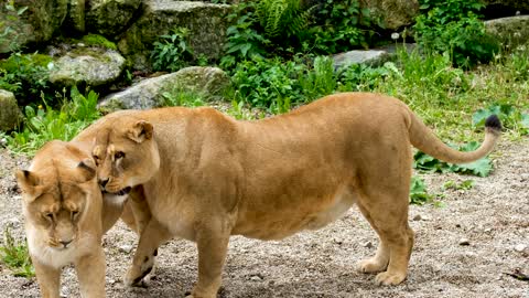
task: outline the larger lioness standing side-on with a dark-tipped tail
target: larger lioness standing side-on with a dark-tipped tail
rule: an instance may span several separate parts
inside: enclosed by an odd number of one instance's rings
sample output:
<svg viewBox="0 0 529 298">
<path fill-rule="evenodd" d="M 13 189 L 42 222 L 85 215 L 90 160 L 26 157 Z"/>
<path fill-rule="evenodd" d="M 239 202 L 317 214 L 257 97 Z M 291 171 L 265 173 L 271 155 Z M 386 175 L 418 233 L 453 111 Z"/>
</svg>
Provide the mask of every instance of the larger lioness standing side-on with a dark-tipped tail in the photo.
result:
<svg viewBox="0 0 529 298">
<path fill-rule="evenodd" d="M 212 108 L 163 108 L 109 116 L 93 150 L 100 184 L 142 184 L 153 214 L 127 283 L 141 280 L 172 236 L 196 242 L 193 297 L 215 297 L 230 235 L 279 240 L 325 226 L 357 204 L 380 237 L 359 263 L 376 281 L 404 280 L 413 246 L 408 225 L 412 150 L 464 163 L 500 135 L 496 116 L 473 152 L 445 146 L 400 100 L 366 93 L 327 96 L 290 114 L 237 121 Z"/>
</svg>

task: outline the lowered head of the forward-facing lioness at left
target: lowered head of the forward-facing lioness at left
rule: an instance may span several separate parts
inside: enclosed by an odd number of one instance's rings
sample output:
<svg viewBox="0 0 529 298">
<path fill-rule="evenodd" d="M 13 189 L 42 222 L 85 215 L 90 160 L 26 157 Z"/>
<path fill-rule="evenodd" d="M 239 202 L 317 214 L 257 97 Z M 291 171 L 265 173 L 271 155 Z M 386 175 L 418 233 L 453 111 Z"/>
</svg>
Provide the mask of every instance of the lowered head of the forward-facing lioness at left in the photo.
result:
<svg viewBox="0 0 529 298">
<path fill-rule="evenodd" d="M 90 200 L 101 195 L 95 164 L 86 156 L 67 142 L 52 141 L 36 153 L 30 170 L 17 171 L 30 244 L 63 251 L 76 243 Z"/>
</svg>

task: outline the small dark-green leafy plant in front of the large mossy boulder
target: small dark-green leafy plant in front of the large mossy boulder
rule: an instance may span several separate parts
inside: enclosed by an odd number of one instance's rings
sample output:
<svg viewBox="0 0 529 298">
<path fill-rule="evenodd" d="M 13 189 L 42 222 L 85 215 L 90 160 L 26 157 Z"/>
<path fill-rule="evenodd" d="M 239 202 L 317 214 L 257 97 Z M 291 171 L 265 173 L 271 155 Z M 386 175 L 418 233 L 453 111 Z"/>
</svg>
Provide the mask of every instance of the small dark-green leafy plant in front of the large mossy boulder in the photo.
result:
<svg viewBox="0 0 529 298">
<path fill-rule="evenodd" d="M 194 61 L 190 45 L 190 31 L 186 28 L 172 30 L 172 34 L 164 34 L 153 43 L 151 60 L 154 71 L 176 72 Z"/>
</svg>

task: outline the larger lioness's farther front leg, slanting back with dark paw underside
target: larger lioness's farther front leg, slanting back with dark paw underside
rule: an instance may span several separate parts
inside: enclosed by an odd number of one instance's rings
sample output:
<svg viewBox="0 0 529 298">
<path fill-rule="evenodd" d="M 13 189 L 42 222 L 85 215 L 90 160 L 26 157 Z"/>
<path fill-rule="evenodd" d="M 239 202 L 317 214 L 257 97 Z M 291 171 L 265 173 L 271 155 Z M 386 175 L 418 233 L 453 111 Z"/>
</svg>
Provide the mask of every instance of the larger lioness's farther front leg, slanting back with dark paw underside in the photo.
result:
<svg viewBox="0 0 529 298">
<path fill-rule="evenodd" d="M 172 235 L 165 226 L 161 225 L 154 219 L 149 221 L 141 233 L 132 265 L 125 277 L 125 284 L 127 286 L 143 286 L 143 277 L 150 274 L 154 267 L 158 247 L 171 237 Z"/>
</svg>

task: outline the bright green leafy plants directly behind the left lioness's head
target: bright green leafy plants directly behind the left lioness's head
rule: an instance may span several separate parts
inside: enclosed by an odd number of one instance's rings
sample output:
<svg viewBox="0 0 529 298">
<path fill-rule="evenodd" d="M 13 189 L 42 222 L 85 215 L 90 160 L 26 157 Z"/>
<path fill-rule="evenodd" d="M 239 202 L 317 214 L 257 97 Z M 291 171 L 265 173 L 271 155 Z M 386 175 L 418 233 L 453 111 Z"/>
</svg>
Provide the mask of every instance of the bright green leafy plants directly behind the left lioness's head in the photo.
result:
<svg viewBox="0 0 529 298">
<path fill-rule="evenodd" d="M 20 153 L 34 153 L 45 142 L 53 139 L 71 140 L 85 127 L 100 117 L 97 110 L 98 95 L 90 91 L 86 96 L 76 87 L 69 93 L 71 100 L 62 95 L 63 105 L 60 110 L 53 109 L 44 102 L 44 107 L 36 109 L 26 106 L 24 126 L 20 131 L 8 136 L 8 147 Z"/>
</svg>

